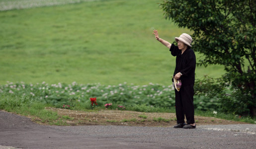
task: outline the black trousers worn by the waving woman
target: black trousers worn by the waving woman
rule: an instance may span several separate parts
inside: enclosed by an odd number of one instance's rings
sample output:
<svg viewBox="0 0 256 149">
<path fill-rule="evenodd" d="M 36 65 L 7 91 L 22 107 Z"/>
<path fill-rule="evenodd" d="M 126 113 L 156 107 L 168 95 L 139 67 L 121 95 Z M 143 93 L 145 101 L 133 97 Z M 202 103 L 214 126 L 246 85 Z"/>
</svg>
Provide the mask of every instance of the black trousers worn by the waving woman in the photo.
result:
<svg viewBox="0 0 256 149">
<path fill-rule="evenodd" d="M 187 124 L 195 123 L 194 119 L 194 88 L 193 85 L 181 86 L 179 92 L 175 90 L 175 109 L 177 123 L 184 123 L 184 115 Z"/>
</svg>

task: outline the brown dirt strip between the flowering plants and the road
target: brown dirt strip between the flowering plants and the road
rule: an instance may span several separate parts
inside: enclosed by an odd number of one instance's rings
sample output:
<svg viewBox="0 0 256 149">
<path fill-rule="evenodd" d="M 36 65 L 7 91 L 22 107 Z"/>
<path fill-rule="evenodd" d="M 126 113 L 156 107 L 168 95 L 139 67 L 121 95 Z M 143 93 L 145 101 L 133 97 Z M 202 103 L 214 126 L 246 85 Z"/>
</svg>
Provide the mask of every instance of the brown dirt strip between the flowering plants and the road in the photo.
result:
<svg viewBox="0 0 256 149">
<path fill-rule="evenodd" d="M 67 125 L 127 125 L 127 126 L 153 126 L 170 127 L 176 123 L 175 113 L 137 112 L 127 110 L 100 110 L 96 112 L 74 111 L 63 108 L 46 107 L 47 110 L 56 111 L 65 117 Z M 43 125 L 40 119 L 35 122 Z M 197 125 L 228 125 L 247 124 L 244 122 L 230 121 L 215 117 L 195 116 Z"/>
</svg>

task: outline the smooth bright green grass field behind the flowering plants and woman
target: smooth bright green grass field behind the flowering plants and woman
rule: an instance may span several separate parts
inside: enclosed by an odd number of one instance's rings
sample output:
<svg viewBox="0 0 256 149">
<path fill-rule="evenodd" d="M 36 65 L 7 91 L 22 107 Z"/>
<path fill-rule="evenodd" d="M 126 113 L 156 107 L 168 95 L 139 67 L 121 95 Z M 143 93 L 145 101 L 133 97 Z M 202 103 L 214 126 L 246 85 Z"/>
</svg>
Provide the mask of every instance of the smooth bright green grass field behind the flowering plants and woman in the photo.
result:
<svg viewBox="0 0 256 149">
<path fill-rule="evenodd" d="M 166 20 L 159 2 L 96 0 L 0 11 L 0 84 L 171 84 L 175 57 L 152 31 L 171 43 L 191 31 Z M 196 68 L 197 78 L 222 74 L 222 66 Z"/>
</svg>

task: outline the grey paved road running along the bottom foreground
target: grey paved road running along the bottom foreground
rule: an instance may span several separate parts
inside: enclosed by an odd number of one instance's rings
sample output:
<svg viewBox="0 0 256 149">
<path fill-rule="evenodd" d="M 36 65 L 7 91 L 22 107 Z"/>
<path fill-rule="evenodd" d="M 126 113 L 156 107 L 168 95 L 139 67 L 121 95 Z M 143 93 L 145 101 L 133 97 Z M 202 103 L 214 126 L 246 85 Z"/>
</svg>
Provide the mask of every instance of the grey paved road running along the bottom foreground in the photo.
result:
<svg viewBox="0 0 256 149">
<path fill-rule="evenodd" d="M 8 146 L 8 147 L 6 147 Z M 256 149 L 256 125 L 42 126 L 0 111 L 0 149 Z M 17 149 L 15 148 L 15 149 Z"/>
</svg>

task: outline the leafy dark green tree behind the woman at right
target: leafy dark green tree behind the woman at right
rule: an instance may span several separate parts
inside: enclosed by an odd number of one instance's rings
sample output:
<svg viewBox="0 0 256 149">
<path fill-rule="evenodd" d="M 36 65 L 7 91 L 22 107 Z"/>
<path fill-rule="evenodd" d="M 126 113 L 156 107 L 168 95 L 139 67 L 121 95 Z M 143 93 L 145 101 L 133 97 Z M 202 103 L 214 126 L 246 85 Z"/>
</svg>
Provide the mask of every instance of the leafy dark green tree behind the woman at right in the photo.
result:
<svg viewBox="0 0 256 149">
<path fill-rule="evenodd" d="M 164 0 L 166 19 L 193 31 L 192 47 L 204 54 L 200 65 L 224 65 L 239 102 L 256 115 L 256 1 Z"/>
</svg>

